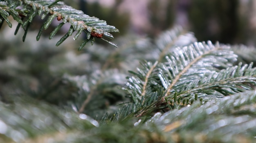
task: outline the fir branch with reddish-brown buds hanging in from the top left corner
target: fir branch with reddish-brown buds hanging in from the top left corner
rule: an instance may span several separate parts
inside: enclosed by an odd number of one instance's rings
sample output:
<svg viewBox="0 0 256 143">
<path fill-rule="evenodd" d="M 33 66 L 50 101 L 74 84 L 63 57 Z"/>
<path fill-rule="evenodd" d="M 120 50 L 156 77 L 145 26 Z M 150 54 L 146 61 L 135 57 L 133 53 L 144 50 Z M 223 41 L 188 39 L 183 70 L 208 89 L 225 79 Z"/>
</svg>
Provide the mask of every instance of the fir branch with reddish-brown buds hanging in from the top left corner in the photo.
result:
<svg viewBox="0 0 256 143">
<path fill-rule="evenodd" d="M 17 8 L 18 6 L 22 9 Z M 12 16 L 19 24 L 16 28 L 15 34 L 18 32 L 20 26 L 24 29 L 25 33 L 23 41 L 26 38 L 26 34 L 29 28 L 29 24 L 32 22 L 36 15 L 40 15 L 42 19 L 46 18 L 45 22 L 41 26 L 36 40 L 40 39 L 40 35 L 44 29 L 47 29 L 52 21 L 56 18 L 58 21 L 62 20 L 58 26 L 52 31 L 49 39 L 61 29 L 61 27 L 69 22 L 71 24 L 69 31 L 57 42 L 56 46 L 60 45 L 67 37 L 71 36 L 74 31 L 77 31 L 74 35 L 74 40 L 84 32 L 87 35 L 87 39 L 82 42 L 79 46 L 81 50 L 87 42 L 94 42 L 94 38 L 101 38 L 109 44 L 116 46 L 116 44 L 103 39 L 103 35 L 109 38 L 114 38 L 109 32 L 118 32 L 115 26 L 110 26 L 104 20 L 99 18 L 90 17 L 83 13 L 83 11 L 76 10 L 70 6 L 67 6 L 64 2 L 59 0 L 4 0 L 0 2 L 0 28 L 4 21 L 7 22 L 8 26 L 12 24 L 8 17 Z"/>
</svg>

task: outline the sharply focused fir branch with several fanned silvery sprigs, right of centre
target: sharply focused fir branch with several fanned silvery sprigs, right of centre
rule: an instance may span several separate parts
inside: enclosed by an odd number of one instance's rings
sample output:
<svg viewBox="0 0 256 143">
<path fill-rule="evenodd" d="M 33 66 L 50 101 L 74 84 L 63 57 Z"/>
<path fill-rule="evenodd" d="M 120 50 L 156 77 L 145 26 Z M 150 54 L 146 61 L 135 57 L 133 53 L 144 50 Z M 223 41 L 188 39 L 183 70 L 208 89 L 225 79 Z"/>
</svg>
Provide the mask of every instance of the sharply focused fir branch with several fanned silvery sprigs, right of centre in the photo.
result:
<svg viewBox="0 0 256 143">
<path fill-rule="evenodd" d="M 252 89 L 256 82 L 252 77 L 255 73 L 252 65 L 249 65 L 248 69 L 248 65 L 241 67 L 241 64 L 228 68 L 236 61 L 236 57 L 227 46 L 220 46 L 218 43 L 213 45 L 211 42 L 194 43 L 173 49 L 173 52 L 166 56 L 167 62 L 159 63 L 157 67 L 143 65 L 144 68 L 138 69 L 139 73 L 131 72 L 135 77 L 129 78 L 127 90 L 135 103 L 136 117 L 166 106 L 175 108 L 193 103 L 195 97 L 207 99 Z M 227 70 L 224 70 L 226 68 Z M 243 77 L 242 73 L 246 76 Z M 158 76 L 154 76 L 156 74 Z M 151 82 L 147 85 L 149 88 L 145 88 L 145 83 L 148 82 L 143 82 L 142 79 L 149 76 Z M 162 84 L 164 92 L 155 92 L 152 87 L 157 87 L 156 83 Z M 159 86 L 157 88 L 161 89 Z M 144 95 L 143 98 L 140 95 Z"/>
</svg>

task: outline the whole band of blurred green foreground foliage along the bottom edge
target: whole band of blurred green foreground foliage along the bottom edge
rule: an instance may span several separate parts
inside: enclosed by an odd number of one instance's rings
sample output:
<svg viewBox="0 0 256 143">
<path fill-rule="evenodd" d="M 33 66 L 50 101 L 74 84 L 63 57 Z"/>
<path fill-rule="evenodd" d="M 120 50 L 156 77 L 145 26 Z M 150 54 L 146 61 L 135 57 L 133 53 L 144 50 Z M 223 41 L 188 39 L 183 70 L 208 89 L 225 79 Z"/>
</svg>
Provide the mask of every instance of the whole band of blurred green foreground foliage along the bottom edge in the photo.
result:
<svg viewBox="0 0 256 143">
<path fill-rule="evenodd" d="M 164 114 L 156 113 L 146 123 L 129 117 L 123 122 L 99 125 L 85 114 L 61 110 L 47 103 L 15 97 L 11 106 L 1 104 L 2 141 L 26 143 L 47 141 L 88 143 L 240 143 L 254 142 L 256 94 L 249 91 L 213 99 L 203 106 Z M 26 104 L 26 106 L 23 106 Z M 33 109 L 33 110 L 32 110 Z M 189 117 L 189 118 L 188 118 Z M 154 131 L 154 132 L 152 132 Z M 13 134 L 10 134 L 10 133 Z M 14 134 L 16 136 L 14 136 Z M 9 136 L 9 137 L 7 137 Z"/>
</svg>

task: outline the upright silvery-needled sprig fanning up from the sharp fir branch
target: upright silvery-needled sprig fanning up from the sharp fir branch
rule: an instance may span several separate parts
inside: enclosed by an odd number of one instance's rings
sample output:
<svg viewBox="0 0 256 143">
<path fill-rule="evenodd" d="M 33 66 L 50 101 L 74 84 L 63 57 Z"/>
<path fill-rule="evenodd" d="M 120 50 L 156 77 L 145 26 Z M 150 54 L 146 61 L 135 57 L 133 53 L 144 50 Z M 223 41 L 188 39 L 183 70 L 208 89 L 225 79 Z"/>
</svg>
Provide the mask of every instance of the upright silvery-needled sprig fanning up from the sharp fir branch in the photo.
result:
<svg viewBox="0 0 256 143">
<path fill-rule="evenodd" d="M 236 57 L 228 50 L 228 47 L 219 46 L 218 44 L 214 46 L 211 42 L 208 42 L 208 44 L 195 43 L 194 46 L 177 49 L 177 53 L 174 51 L 170 57 L 166 57 L 168 61 L 166 67 L 163 66 L 164 68 L 160 70 L 161 75 L 159 76 L 164 78 L 162 84 L 166 88 L 164 97 L 171 94 L 174 91 L 173 86 L 177 84 L 186 85 L 186 83 L 200 79 L 202 76 L 207 77 L 222 68 L 231 66 L 230 62 L 236 61 Z M 167 87 L 167 85 L 169 86 Z M 193 86 L 196 85 L 193 84 Z M 181 90 L 179 89 L 176 92 Z"/>
</svg>

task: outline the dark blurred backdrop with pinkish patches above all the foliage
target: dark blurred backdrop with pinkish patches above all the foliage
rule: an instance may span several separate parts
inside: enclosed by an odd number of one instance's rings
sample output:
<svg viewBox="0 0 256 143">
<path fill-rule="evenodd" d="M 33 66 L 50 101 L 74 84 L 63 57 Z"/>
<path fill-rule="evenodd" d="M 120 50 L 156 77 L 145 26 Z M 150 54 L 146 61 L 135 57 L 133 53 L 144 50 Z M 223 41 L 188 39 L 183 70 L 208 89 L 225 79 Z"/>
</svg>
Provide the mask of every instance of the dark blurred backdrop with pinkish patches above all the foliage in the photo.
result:
<svg viewBox="0 0 256 143">
<path fill-rule="evenodd" d="M 120 30 L 155 37 L 174 25 L 198 41 L 255 45 L 255 0 L 66 0 Z M 118 35 L 115 35 L 116 37 Z"/>
</svg>

